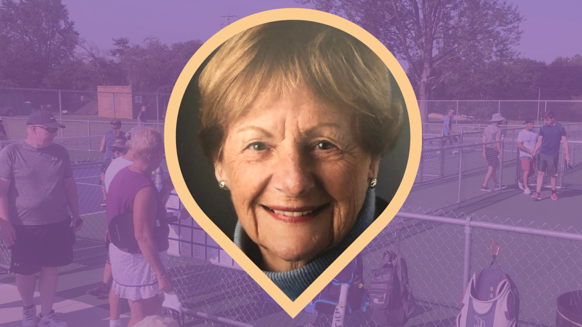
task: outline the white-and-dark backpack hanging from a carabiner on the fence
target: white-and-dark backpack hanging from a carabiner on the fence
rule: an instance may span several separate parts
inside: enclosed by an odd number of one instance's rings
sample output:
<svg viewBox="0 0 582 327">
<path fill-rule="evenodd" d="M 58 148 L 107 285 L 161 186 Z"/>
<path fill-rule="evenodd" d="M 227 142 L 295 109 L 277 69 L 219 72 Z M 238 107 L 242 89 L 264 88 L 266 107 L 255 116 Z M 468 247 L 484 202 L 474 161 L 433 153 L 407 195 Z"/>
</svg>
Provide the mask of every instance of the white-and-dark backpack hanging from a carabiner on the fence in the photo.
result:
<svg viewBox="0 0 582 327">
<path fill-rule="evenodd" d="M 493 247 L 497 245 L 494 254 Z M 463 294 L 457 327 L 514 327 L 519 316 L 519 292 L 513 280 L 495 260 L 501 250 L 491 244 L 493 260 L 488 267 L 474 273 Z M 496 269 L 491 268 L 495 264 Z"/>
</svg>

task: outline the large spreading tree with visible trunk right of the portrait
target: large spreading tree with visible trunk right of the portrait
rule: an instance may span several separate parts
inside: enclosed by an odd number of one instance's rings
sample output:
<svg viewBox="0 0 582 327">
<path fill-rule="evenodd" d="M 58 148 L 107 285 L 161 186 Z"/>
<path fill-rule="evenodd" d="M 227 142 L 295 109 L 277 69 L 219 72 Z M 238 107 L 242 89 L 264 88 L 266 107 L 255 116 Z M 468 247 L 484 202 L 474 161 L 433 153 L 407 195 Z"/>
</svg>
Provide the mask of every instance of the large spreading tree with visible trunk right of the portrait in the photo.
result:
<svg viewBox="0 0 582 327">
<path fill-rule="evenodd" d="M 344 16 L 406 59 L 428 119 L 430 92 L 460 66 L 512 59 L 523 22 L 517 7 L 497 0 L 296 0 Z"/>
</svg>

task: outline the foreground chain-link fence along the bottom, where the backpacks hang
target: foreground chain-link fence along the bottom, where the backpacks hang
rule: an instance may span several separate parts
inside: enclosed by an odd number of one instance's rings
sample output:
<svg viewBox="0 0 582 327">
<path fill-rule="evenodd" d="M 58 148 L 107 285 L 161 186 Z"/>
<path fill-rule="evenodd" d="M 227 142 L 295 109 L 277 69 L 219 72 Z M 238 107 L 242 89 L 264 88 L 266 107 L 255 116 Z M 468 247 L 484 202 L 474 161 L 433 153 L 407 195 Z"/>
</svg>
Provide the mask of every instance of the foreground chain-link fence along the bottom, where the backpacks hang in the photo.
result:
<svg viewBox="0 0 582 327">
<path fill-rule="evenodd" d="M 470 275 L 488 266 L 489 247 L 496 241 L 502 246 L 498 262 L 521 294 L 520 326 L 552 326 L 555 298 L 582 287 L 579 231 L 487 216 L 450 216 L 400 212 L 361 252 L 364 285 L 400 232 L 417 304 L 406 326 L 452 326 Z M 169 267 L 190 319 L 235 326 L 300 326 L 311 321 L 310 305 L 291 319 L 239 269 L 184 257 L 171 257 Z M 331 326 L 331 319 L 322 315 L 319 323 Z M 378 326 L 371 307 L 347 314 L 344 325 Z"/>
</svg>

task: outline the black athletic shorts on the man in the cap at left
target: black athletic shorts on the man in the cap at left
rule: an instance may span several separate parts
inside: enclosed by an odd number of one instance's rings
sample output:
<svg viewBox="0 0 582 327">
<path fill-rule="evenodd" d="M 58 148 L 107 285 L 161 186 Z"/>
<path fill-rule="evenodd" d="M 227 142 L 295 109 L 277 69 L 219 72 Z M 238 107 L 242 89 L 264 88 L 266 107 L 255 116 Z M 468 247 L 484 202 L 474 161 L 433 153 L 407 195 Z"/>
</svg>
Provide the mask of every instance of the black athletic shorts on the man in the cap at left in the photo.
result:
<svg viewBox="0 0 582 327">
<path fill-rule="evenodd" d="M 10 272 L 33 275 L 41 266 L 59 267 L 73 262 L 75 235 L 71 218 L 47 225 L 12 225 L 16 240 L 12 248 Z"/>
</svg>

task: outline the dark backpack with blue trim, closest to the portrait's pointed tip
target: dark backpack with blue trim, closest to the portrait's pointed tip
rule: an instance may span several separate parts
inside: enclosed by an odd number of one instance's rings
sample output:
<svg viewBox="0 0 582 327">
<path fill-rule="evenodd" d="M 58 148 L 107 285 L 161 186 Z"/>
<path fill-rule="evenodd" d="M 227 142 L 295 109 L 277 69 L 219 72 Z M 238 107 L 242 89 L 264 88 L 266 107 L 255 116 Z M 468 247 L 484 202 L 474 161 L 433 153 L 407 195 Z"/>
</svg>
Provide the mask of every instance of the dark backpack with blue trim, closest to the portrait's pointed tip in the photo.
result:
<svg viewBox="0 0 582 327">
<path fill-rule="evenodd" d="M 365 311 L 365 291 L 364 291 L 364 264 L 361 254 L 356 255 L 342 271 L 339 272 L 331 283 L 321 290 L 320 294 L 313 300 L 313 308 L 317 312 L 332 315 L 338 305 L 339 293 L 342 284 L 349 286 L 347 290 L 346 314 L 351 314 L 364 307 Z"/>
</svg>

